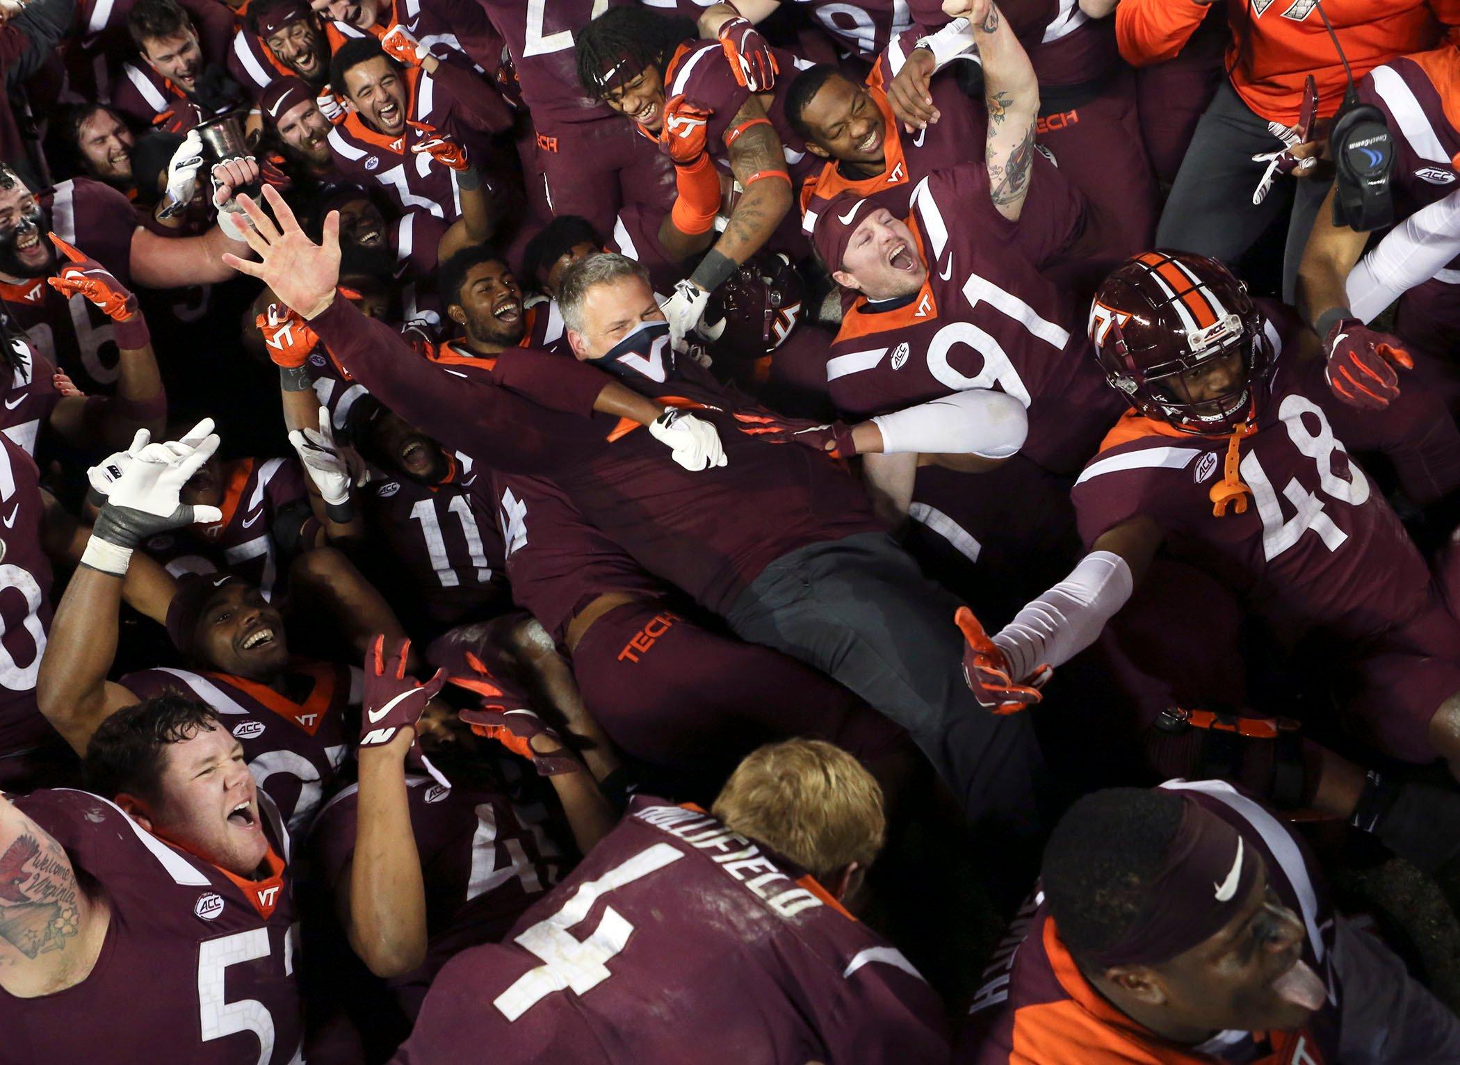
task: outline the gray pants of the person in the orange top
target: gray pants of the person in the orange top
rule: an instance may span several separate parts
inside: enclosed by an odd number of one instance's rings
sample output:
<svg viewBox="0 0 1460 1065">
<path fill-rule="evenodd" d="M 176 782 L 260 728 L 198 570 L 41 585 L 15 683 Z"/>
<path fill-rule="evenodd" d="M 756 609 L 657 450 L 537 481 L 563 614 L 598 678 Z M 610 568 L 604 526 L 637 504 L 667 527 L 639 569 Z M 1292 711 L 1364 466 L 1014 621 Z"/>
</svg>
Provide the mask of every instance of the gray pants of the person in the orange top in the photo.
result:
<svg viewBox="0 0 1460 1065">
<path fill-rule="evenodd" d="M 1282 298 L 1294 302 L 1302 248 L 1333 182 L 1278 178 L 1267 198 L 1253 206 L 1253 190 L 1267 168 L 1267 163 L 1253 162 L 1253 156 L 1280 147 L 1282 142 L 1267 131 L 1267 120 L 1253 114 L 1231 83 L 1223 82 L 1197 123 L 1177 171 L 1156 225 L 1156 247 L 1194 251 L 1234 264 L 1288 210 L 1285 185 L 1291 185 L 1295 198 L 1288 222 Z"/>
</svg>

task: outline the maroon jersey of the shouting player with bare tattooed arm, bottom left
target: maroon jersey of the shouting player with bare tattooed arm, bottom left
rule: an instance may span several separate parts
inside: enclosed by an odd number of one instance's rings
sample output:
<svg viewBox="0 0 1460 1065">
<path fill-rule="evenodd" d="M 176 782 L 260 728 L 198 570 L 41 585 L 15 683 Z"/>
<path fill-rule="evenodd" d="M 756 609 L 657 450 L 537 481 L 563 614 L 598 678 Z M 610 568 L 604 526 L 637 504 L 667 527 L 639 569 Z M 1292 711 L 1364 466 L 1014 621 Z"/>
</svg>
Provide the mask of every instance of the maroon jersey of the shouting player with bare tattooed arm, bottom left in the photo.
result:
<svg viewBox="0 0 1460 1065">
<path fill-rule="evenodd" d="M 38 791 L 15 804 L 101 886 L 111 913 L 105 947 L 74 988 L 39 998 L 0 992 L 3 1065 L 304 1061 L 289 836 L 266 797 L 258 804 L 274 875 L 263 881 L 162 842 L 83 791 Z"/>
</svg>

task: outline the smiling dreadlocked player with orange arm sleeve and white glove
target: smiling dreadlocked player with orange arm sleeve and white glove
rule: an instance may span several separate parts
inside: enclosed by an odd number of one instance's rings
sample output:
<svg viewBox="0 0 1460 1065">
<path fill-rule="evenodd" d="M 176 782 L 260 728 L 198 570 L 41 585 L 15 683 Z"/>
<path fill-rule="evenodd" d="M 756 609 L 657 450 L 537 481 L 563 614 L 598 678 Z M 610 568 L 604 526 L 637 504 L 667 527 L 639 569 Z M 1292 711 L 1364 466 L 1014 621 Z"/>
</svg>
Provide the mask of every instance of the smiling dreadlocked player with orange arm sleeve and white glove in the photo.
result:
<svg viewBox="0 0 1460 1065">
<path fill-rule="evenodd" d="M 774 77 L 797 63 L 758 35 L 739 48 L 698 41 L 689 22 L 644 7 L 613 7 L 578 34 L 584 92 L 658 140 L 675 160 L 677 197 L 658 229 L 664 252 L 683 261 L 710 248 L 664 303 L 676 341 L 699 324 L 710 293 L 753 252 L 768 244 L 793 258 L 806 252 L 787 213 L 794 182 L 810 169 L 809 156 L 785 120 L 781 98 L 788 79 L 766 85 L 766 71 Z M 787 159 L 800 160 L 794 174 Z M 717 239 L 724 169 L 742 193 Z"/>
</svg>

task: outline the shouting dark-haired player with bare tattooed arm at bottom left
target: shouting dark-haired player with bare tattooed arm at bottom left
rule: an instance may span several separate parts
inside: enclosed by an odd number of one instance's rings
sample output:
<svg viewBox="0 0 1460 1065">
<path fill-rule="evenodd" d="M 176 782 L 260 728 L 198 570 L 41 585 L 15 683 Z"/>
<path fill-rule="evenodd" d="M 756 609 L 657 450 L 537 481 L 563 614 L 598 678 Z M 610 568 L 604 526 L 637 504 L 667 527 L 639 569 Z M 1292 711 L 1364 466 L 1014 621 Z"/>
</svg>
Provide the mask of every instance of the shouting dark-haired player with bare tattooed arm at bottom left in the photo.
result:
<svg viewBox="0 0 1460 1065">
<path fill-rule="evenodd" d="M 289 834 L 238 741 L 203 703 L 152 699 L 98 731 L 86 769 L 96 794 L 0 798 L 0 1062 L 299 1061 Z M 112 1023 L 76 1023 L 117 1001 Z"/>
</svg>

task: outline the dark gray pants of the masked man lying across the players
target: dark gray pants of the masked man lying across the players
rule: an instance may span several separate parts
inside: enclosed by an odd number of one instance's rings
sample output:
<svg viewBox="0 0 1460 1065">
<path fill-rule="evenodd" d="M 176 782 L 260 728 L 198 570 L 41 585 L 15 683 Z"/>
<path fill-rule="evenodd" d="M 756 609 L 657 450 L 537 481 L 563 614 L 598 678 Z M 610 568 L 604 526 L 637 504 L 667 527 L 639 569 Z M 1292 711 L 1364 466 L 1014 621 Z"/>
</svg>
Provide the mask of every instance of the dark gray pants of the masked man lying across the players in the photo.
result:
<svg viewBox="0 0 1460 1065">
<path fill-rule="evenodd" d="M 882 532 L 784 554 L 726 621 L 835 677 L 898 722 L 962 802 L 1016 834 L 1038 830 L 1044 760 L 1026 713 L 993 715 L 964 681 L 959 607 Z"/>
</svg>

